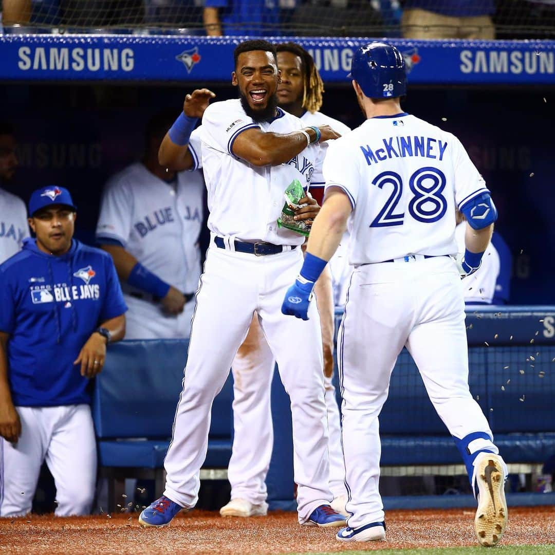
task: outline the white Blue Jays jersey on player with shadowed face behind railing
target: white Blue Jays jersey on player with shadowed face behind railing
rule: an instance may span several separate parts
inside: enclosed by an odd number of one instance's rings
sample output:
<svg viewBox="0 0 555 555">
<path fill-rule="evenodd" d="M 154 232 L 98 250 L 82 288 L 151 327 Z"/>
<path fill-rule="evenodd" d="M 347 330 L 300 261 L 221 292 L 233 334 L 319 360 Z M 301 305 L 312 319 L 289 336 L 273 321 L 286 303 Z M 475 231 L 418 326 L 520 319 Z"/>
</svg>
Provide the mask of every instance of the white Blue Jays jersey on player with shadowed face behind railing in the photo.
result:
<svg viewBox="0 0 555 555">
<path fill-rule="evenodd" d="M 160 279 L 194 292 L 200 275 L 203 188 L 198 171 L 179 172 L 174 188 L 143 164 L 132 164 L 106 185 L 97 240 L 118 241 Z"/>
</svg>

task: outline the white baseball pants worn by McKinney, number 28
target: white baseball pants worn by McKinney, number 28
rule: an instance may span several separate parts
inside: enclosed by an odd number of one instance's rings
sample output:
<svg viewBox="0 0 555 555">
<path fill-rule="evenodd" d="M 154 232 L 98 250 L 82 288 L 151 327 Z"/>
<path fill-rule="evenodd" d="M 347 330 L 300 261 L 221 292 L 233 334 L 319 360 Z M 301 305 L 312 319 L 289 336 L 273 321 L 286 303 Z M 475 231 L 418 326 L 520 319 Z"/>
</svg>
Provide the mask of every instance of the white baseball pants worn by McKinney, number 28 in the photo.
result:
<svg viewBox="0 0 555 555">
<path fill-rule="evenodd" d="M 352 274 L 339 329 L 342 440 L 352 528 L 384 520 L 379 414 L 406 346 L 452 436 L 492 432 L 468 389 L 461 279 L 447 256 L 367 264 Z M 407 415 L 410 418 L 410 415 Z"/>
</svg>

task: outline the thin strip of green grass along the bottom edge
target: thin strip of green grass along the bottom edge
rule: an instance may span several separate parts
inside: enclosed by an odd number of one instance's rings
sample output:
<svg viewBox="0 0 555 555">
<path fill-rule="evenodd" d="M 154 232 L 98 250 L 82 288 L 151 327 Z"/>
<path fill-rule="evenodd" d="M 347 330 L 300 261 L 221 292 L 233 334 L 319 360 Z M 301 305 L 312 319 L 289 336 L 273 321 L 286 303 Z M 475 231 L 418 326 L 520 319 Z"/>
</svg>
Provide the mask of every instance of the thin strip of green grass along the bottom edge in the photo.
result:
<svg viewBox="0 0 555 555">
<path fill-rule="evenodd" d="M 536 553 L 555 554 L 555 545 L 538 546 L 498 546 L 493 551 L 485 547 L 424 547 L 418 549 L 372 549 L 372 551 L 340 551 L 335 553 L 294 553 L 292 555 L 468 555 L 469 553 L 482 553 L 488 555 L 536 555 Z"/>
</svg>

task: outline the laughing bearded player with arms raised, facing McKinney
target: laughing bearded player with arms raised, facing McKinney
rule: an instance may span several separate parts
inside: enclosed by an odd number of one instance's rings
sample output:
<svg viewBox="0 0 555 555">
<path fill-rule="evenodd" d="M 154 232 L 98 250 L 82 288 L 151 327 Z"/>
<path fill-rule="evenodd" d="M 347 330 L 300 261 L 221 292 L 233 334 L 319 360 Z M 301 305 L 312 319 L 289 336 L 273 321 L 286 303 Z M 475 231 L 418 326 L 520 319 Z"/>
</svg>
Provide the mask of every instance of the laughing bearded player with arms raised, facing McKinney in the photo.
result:
<svg viewBox="0 0 555 555">
<path fill-rule="evenodd" d="M 166 488 L 140 514 L 139 522 L 165 526 L 181 508 L 194 507 L 211 405 L 256 313 L 291 398 L 299 522 L 337 527 L 345 518 L 329 505 L 322 341 L 316 306 L 311 308 L 310 322 L 287 319 L 280 312 L 287 281 L 302 264 L 304 236 L 277 223 L 291 183 L 298 181 L 307 188 L 312 181 L 321 182 L 317 143 L 337 134 L 326 125 L 303 127 L 298 118 L 277 107 L 279 72 L 272 44 L 240 43 L 234 62 L 232 83 L 238 86 L 240 98 L 215 102 L 203 115 L 200 137 L 211 241 L 197 293 L 183 391 L 165 458 Z M 203 95 L 208 100 L 209 92 L 196 96 Z M 185 104 L 190 100 L 188 95 Z M 186 108 L 164 138 L 163 164 L 179 164 L 194 156 L 188 145 L 196 123 L 189 116 L 195 114 Z M 311 219 L 318 209 L 308 204 L 297 214 Z"/>
</svg>

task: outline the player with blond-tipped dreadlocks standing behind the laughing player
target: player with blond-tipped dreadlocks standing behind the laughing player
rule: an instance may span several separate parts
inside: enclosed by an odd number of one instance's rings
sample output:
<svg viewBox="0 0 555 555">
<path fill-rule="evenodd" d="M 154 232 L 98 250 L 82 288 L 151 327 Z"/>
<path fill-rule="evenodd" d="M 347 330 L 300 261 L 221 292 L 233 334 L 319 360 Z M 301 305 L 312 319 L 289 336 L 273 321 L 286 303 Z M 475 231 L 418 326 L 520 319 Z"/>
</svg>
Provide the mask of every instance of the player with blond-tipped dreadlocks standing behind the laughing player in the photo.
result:
<svg viewBox="0 0 555 555">
<path fill-rule="evenodd" d="M 304 48 L 295 43 L 278 44 L 278 105 L 296 115 L 305 125 L 330 125 L 341 135 L 349 127 L 322 114 L 324 85 L 314 60 Z M 327 143 L 322 145 L 326 148 Z M 310 193 L 321 202 L 324 185 L 311 183 Z M 338 284 L 339 286 L 339 284 Z M 324 345 L 324 386 L 329 432 L 330 490 L 334 495 L 331 506 L 345 513 L 345 465 L 341 450 L 341 423 L 335 387 L 334 371 L 334 294 L 329 269 L 324 270 L 315 285 Z M 266 475 L 274 446 L 271 420 L 270 390 L 275 359 L 255 316 L 249 333 L 239 348 L 231 370 L 234 378 L 233 450 L 228 467 L 231 501 L 220 509 L 222 516 L 249 517 L 264 515 Z"/>
</svg>

